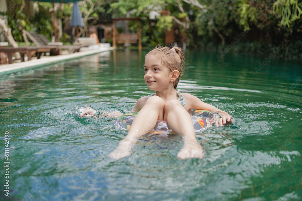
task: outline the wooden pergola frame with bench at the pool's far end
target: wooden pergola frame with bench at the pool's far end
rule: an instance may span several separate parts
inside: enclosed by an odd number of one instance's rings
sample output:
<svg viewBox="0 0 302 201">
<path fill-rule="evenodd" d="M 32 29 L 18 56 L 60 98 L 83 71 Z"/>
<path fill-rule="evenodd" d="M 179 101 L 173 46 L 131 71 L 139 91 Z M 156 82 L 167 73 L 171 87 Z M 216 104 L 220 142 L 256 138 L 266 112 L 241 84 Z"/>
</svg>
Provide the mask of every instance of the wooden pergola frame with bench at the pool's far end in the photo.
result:
<svg viewBox="0 0 302 201">
<path fill-rule="evenodd" d="M 138 23 L 137 33 L 117 33 L 116 22 L 120 20 L 135 20 Z M 138 49 L 142 50 L 142 32 L 141 23 L 139 17 L 115 17 L 113 21 L 113 47 L 116 47 L 117 43 L 137 43 Z"/>
</svg>

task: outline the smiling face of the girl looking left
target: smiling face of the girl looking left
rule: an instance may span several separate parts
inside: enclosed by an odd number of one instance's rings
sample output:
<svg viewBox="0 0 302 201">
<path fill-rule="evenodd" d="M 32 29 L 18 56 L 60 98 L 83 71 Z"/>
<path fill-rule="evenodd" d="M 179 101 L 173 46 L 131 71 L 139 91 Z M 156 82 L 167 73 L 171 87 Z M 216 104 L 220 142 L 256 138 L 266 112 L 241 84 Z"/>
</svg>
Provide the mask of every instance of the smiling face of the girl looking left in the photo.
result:
<svg viewBox="0 0 302 201">
<path fill-rule="evenodd" d="M 144 80 L 149 90 L 161 91 L 173 85 L 171 71 L 154 55 L 146 57 L 144 71 Z"/>
</svg>

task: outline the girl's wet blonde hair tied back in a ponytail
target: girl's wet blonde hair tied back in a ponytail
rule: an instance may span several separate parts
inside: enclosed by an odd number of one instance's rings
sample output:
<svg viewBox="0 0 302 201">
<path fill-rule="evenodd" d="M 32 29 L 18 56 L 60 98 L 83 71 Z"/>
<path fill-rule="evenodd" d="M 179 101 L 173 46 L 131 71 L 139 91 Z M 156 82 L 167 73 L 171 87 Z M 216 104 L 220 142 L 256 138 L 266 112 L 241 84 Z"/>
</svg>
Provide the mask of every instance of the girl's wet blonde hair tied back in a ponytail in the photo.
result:
<svg viewBox="0 0 302 201">
<path fill-rule="evenodd" d="M 156 56 L 162 60 L 162 64 L 167 67 L 170 71 L 178 70 L 179 76 L 178 78 L 173 82 L 174 89 L 176 89 L 179 77 L 183 75 L 183 64 L 185 57 L 183 55 L 182 49 L 178 46 L 173 46 L 172 48 L 169 47 L 163 47 L 163 46 L 156 46 L 153 50 L 148 52 L 146 54 L 145 59 L 150 56 Z"/>
</svg>

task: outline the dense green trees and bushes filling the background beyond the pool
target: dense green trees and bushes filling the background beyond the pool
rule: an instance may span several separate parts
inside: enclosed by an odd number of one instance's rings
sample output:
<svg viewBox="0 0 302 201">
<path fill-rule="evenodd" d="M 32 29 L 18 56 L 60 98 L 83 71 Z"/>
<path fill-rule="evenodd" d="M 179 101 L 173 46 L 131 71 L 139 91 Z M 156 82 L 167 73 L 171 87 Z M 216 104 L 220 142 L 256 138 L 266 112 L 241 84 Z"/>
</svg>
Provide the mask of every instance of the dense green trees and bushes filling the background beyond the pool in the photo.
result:
<svg viewBox="0 0 302 201">
<path fill-rule="evenodd" d="M 8 15 L 8 24 L 16 41 L 22 42 L 21 29 L 43 33 L 49 39 L 53 34 L 52 16 L 49 2 L 39 2 L 35 17 L 27 20 L 18 11 Z M 181 0 L 89 0 L 79 2 L 80 11 L 88 27 L 96 21 L 111 17 L 140 17 L 142 22 L 143 46 L 165 45 L 165 31 L 172 27 L 186 33 L 187 47 L 223 49 L 225 44 L 236 42 L 230 52 L 265 54 L 279 45 L 285 37 L 291 42 L 280 51 L 280 56 L 302 59 L 302 2 L 300 0 L 196 0 L 201 9 Z M 94 6 L 93 6 L 94 4 Z M 180 9 L 180 5 L 183 10 Z M 171 15 L 149 19 L 149 12 L 169 10 Z M 192 12 L 193 11 L 193 12 Z M 72 15 L 72 4 L 65 4 L 56 12 L 56 19 L 68 22 Z M 189 28 L 181 25 L 187 17 Z M 178 19 L 179 21 L 175 20 Z M 179 23 L 181 22 L 181 23 Z M 179 23 L 179 24 L 178 24 Z M 129 31 L 137 31 L 138 24 L 129 22 Z M 124 31 L 119 28 L 119 33 Z M 246 32 L 243 32 L 246 31 Z M 244 33 L 238 40 L 238 35 Z M 237 38 L 236 38 L 237 37 Z M 61 41 L 71 41 L 71 36 L 63 33 Z M 107 42 L 111 42 L 108 39 Z"/>
</svg>

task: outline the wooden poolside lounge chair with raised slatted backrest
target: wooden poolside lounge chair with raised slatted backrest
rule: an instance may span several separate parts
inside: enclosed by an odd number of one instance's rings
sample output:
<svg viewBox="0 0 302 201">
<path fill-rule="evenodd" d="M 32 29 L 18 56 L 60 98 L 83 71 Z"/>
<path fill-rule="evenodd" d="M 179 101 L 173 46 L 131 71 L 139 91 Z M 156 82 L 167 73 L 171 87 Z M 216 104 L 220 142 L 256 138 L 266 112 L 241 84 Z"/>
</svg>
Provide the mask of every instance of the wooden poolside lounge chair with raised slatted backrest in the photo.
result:
<svg viewBox="0 0 302 201">
<path fill-rule="evenodd" d="M 79 52 L 80 48 L 82 47 L 80 45 L 63 46 L 62 42 L 49 42 L 49 40 L 43 34 L 26 32 L 26 35 L 39 48 L 43 47 L 50 49 L 50 55 L 62 55 L 62 49 L 67 49 L 69 53 Z"/>
</svg>

